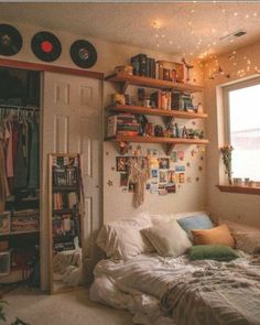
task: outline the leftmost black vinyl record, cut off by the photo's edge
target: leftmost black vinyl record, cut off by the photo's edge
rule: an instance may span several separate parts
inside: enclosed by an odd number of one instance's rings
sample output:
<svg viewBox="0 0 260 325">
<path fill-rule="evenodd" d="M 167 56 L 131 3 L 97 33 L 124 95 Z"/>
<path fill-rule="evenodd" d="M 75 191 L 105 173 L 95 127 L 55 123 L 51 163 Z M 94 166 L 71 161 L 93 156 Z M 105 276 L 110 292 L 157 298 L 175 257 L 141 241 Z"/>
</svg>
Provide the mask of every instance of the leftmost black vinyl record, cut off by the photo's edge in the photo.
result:
<svg viewBox="0 0 260 325">
<path fill-rule="evenodd" d="M 0 55 L 11 56 L 22 48 L 22 36 L 19 31 L 8 24 L 0 24 Z"/>
</svg>

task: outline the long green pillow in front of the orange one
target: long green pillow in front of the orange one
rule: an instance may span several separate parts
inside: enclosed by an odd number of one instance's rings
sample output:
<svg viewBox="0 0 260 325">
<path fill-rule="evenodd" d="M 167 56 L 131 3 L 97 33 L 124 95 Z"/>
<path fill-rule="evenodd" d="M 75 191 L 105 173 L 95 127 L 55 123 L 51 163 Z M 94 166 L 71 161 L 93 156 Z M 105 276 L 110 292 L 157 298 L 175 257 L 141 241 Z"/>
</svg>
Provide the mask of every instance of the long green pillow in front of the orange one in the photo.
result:
<svg viewBox="0 0 260 325">
<path fill-rule="evenodd" d="M 191 260 L 231 261 L 239 258 L 239 254 L 224 245 L 196 245 L 189 248 L 188 257 Z"/>
</svg>

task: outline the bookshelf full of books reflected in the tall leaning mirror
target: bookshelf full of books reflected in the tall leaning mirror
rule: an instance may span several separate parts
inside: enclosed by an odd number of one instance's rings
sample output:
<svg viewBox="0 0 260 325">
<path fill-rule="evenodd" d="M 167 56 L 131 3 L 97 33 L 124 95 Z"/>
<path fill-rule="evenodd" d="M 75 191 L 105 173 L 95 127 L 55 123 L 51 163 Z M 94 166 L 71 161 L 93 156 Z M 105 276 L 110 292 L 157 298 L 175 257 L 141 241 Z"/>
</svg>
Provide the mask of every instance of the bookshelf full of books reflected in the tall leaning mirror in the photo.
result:
<svg viewBox="0 0 260 325">
<path fill-rule="evenodd" d="M 67 291 L 66 283 L 56 280 L 55 258 L 82 249 L 83 191 L 79 154 L 50 154 L 50 272 L 51 292 Z"/>
</svg>

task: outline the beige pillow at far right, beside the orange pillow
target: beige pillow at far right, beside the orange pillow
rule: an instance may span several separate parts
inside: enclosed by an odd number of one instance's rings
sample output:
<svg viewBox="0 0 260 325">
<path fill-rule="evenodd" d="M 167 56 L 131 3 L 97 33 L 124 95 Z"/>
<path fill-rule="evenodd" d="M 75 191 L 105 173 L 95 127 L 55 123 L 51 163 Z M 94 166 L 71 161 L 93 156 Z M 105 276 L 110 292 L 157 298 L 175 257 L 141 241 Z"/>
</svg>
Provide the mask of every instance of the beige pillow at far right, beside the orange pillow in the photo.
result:
<svg viewBox="0 0 260 325">
<path fill-rule="evenodd" d="M 260 228 L 237 224 L 229 220 L 219 220 L 219 224 L 226 224 L 236 240 L 236 248 L 248 253 L 253 253 L 254 249 L 260 247 Z"/>
</svg>

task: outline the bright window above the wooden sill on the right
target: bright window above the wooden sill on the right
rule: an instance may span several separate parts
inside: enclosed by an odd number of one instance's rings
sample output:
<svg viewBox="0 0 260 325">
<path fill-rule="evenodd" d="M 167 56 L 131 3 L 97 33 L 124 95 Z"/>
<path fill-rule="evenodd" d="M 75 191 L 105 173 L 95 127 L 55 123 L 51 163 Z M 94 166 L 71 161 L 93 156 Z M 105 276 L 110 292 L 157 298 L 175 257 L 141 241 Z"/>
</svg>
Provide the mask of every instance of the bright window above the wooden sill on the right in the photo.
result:
<svg viewBox="0 0 260 325">
<path fill-rule="evenodd" d="M 226 89 L 232 176 L 260 182 L 260 78 Z"/>
</svg>

